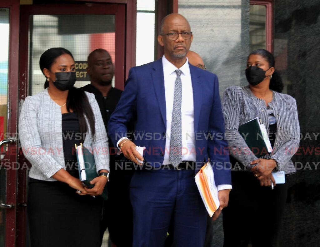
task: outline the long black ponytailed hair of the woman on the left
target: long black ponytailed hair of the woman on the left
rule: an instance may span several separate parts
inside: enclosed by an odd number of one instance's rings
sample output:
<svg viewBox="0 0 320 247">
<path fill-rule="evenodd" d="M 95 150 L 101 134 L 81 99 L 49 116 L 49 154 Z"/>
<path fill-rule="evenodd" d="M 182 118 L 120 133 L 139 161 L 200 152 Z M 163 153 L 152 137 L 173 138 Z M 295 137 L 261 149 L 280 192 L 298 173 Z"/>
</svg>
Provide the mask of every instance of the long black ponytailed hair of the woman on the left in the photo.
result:
<svg viewBox="0 0 320 247">
<path fill-rule="evenodd" d="M 71 52 L 61 47 L 50 48 L 46 50 L 41 55 L 40 61 L 39 61 L 39 65 L 42 73 L 44 74 L 43 72 L 44 68 L 51 70 L 52 64 L 55 62 L 55 60 L 58 57 L 60 57 L 63 54 L 68 54 L 73 58 Z M 49 82 L 46 80 L 44 83 L 44 88 L 48 88 L 48 87 L 49 87 Z M 95 133 L 94 115 L 93 115 L 88 97 L 84 91 L 77 89 L 76 87 L 72 87 L 71 89 L 69 89 L 68 97 L 67 97 L 67 110 L 70 111 L 70 109 L 75 111 L 76 114 L 78 115 L 80 132 L 82 133 L 87 132 L 88 126 L 84 118 L 84 116 L 86 116 L 90 125 L 92 136 L 94 136 L 94 133 Z"/>
</svg>

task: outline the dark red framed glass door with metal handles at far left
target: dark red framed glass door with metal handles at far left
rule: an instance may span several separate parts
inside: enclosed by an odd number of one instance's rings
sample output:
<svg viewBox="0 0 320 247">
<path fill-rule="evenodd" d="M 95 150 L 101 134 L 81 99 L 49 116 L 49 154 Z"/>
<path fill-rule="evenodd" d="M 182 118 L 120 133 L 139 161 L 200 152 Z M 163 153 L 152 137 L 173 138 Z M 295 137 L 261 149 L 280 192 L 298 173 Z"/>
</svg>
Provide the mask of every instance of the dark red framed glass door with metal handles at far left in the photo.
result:
<svg viewBox="0 0 320 247">
<path fill-rule="evenodd" d="M 0 0 L 0 246 L 15 246 L 19 4 Z M 18 16 L 18 18 L 15 18 Z"/>
</svg>

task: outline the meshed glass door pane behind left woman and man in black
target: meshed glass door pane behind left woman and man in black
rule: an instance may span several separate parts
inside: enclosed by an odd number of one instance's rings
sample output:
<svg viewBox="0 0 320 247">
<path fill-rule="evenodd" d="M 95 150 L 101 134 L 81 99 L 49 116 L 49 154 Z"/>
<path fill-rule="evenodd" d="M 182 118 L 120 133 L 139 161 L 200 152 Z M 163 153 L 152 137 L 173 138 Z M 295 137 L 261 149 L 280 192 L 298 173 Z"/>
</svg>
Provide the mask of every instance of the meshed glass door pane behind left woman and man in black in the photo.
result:
<svg viewBox="0 0 320 247">
<path fill-rule="evenodd" d="M 44 88 L 45 77 L 39 60 L 49 48 L 63 47 L 72 53 L 76 61 L 76 87 L 90 83 L 86 61 L 93 50 L 107 50 L 115 63 L 115 15 L 33 15 L 30 18 L 30 95 Z"/>
</svg>

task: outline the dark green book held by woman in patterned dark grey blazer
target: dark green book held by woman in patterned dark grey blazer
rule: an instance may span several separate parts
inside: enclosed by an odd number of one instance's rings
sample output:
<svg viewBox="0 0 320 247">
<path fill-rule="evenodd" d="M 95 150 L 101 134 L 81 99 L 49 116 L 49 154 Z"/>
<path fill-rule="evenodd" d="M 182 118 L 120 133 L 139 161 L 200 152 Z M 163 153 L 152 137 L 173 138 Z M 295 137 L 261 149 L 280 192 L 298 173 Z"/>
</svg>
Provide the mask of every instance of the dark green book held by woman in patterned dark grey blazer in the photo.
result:
<svg viewBox="0 0 320 247">
<path fill-rule="evenodd" d="M 266 140 L 264 140 L 262 137 L 258 118 L 252 119 L 249 122 L 240 125 L 238 131 L 242 135 L 252 153 L 258 158 L 269 154 Z M 269 139 L 268 142 L 270 142 Z"/>
</svg>

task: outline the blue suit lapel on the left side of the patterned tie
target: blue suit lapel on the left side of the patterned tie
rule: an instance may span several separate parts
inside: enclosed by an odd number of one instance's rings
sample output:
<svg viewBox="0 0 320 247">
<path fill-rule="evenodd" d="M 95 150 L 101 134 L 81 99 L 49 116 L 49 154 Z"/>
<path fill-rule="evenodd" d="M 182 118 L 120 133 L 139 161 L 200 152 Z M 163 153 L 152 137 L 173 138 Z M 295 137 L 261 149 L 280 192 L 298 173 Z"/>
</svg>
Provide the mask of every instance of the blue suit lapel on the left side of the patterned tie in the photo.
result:
<svg viewBox="0 0 320 247">
<path fill-rule="evenodd" d="M 153 71 L 151 72 L 153 86 L 155 88 L 156 98 L 159 104 L 164 126 L 167 126 L 165 92 L 164 92 L 164 75 L 162 68 L 162 59 L 155 61 Z"/>
</svg>

